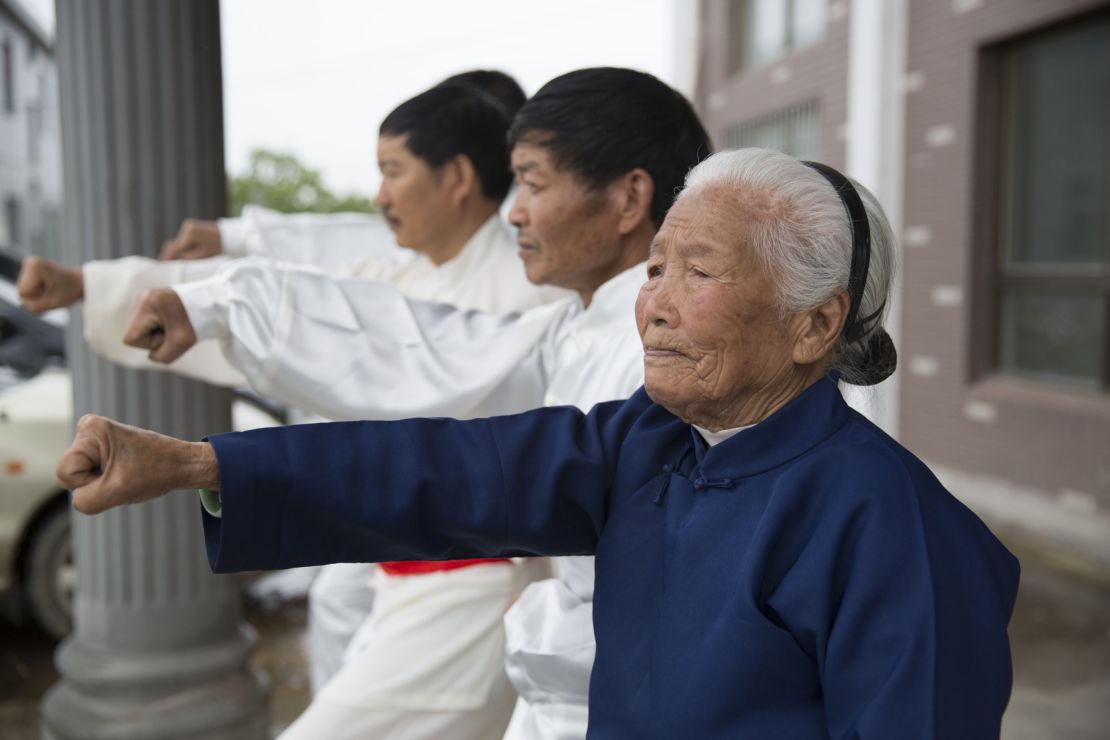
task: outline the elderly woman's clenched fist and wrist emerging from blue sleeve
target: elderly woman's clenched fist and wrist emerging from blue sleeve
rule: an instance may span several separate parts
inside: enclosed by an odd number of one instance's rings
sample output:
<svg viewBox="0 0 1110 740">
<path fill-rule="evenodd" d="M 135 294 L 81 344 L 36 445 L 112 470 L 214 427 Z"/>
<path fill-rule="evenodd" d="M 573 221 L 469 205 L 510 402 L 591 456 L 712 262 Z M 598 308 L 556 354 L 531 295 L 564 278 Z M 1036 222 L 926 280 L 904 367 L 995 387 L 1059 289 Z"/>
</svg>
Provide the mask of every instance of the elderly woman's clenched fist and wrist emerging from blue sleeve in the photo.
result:
<svg viewBox="0 0 1110 740">
<path fill-rule="evenodd" d="M 73 507 L 100 514 L 182 488 L 219 488 L 212 446 L 83 416 L 73 444 L 58 460 L 58 481 L 73 491 Z"/>
</svg>

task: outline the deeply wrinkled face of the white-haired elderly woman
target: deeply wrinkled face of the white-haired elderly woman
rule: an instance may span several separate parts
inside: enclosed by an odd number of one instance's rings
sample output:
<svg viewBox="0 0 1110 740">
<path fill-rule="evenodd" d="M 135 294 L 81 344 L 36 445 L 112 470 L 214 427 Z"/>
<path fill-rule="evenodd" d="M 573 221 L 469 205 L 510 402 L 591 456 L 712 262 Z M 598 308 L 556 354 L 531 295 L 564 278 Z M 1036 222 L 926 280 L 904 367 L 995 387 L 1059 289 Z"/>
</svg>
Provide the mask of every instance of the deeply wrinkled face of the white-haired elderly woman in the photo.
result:
<svg viewBox="0 0 1110 740">
<path fill-rule="evenodd" d="M 751 424 L 795 372 L 789 318 L 748 245 L 749 206 L 708 186 L 675 204 L 636 301 L 653 401 L 712 429 Z M 787 383 L 788 385 L 788 383 Z"/>
</svg>

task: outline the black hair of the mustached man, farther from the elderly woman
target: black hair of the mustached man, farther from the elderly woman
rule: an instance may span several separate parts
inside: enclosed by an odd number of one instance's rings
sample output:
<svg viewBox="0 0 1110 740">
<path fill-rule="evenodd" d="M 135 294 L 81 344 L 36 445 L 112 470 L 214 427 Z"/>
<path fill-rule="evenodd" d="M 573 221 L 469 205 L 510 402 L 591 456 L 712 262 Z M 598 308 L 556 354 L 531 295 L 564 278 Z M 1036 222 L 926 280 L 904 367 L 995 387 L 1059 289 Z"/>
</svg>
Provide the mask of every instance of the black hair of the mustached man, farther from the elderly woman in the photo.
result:
<svg viewBox="0 0 1110 740">
<path fill-rule="evenodd" d="M 466 83 L 442 82 L 393 109 L 379 133 L 406 135 L 410 152 L 435 169 L 462 154 L 473 164 L 482 193 L 502 201 L 513 182 L 505 134 L 509 116 L 490 93 Z"/>
</svg>

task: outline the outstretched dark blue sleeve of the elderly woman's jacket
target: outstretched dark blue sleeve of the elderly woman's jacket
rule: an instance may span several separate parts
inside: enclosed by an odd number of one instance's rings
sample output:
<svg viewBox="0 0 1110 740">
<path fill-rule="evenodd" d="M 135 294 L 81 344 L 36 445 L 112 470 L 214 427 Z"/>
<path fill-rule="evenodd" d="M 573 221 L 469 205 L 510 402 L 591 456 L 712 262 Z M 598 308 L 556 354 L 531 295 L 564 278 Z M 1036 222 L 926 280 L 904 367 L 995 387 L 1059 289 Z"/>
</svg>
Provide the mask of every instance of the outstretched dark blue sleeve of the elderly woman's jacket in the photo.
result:
<svg viewBox="0 0 1110 740">
<path fill-rule="evenodd" d="M 622 408 L 213 436 L 223 511 L 203 514 L 209 562 L 226 572 L 592 554 L 634 416 Z"/>
</svg>

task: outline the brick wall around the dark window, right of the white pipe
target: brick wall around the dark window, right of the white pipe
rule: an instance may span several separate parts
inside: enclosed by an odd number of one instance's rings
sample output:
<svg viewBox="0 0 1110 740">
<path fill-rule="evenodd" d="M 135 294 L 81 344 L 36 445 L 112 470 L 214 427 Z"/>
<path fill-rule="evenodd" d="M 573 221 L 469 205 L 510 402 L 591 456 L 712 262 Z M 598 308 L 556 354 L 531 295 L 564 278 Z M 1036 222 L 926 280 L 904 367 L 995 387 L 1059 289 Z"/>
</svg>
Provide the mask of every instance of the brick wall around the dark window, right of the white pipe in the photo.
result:
<svg viewBox="0 0 1110 740">
<path fill-rule="evenodd" d="M 901 440 L 968 472 L 1110 507 L 1110 398 L 991 373 L 991 44 L 1110 3 L 910 0 Z M 983 53 L 986 50 L 986 54 Z M 1110 135 L 1110 132 L 1108 132 Z"/>
</svg>

